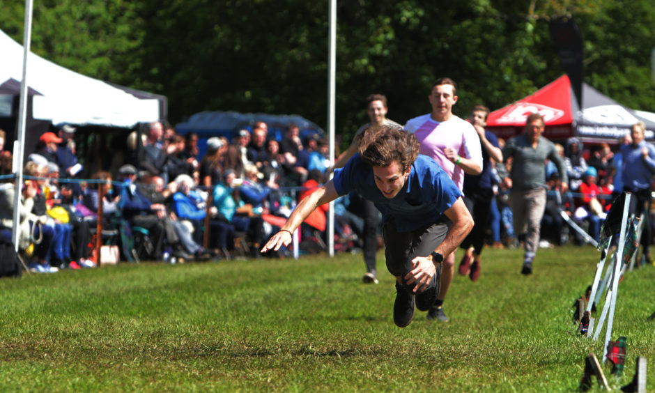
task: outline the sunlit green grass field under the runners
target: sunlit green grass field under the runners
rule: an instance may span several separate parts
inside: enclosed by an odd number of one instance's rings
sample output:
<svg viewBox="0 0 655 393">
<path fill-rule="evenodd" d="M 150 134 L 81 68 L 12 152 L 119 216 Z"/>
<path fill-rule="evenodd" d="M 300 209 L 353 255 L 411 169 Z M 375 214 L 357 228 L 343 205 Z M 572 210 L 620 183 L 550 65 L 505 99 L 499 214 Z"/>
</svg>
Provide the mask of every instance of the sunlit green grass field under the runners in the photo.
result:
<svg viewBox="0 0 655 393">
<path fill-rule="evenodd" d="M 458 252 L 458 256 L 461 252 Z M 392 320 L 393 278 L 361 284 L 361 255 L 122 264 L 0 280 L 3 392 L 570 392 L 599 341 L 573 334 L 592 247 L 486 249 L 478 282 L 456 275 L 449 323 Z M 459 261 L 459 259 L 458 259 Z M 612 339 L 655 361 L 655 268 L 619 286 Z M 600 314 L 601 308 L 599 307 Z M 597 317 L 598 315 L 596 315 Z M 649 367 L 652 369 L 652 366 Z M 652 373 L 652 371 L 651 371 Z M 648 390 L 655 391 L 650 376 Z M 594 391 L 596 387 L 594 387 Z"/>
</svg>

